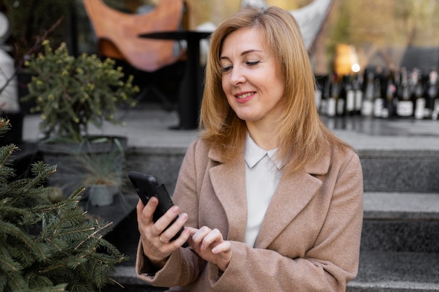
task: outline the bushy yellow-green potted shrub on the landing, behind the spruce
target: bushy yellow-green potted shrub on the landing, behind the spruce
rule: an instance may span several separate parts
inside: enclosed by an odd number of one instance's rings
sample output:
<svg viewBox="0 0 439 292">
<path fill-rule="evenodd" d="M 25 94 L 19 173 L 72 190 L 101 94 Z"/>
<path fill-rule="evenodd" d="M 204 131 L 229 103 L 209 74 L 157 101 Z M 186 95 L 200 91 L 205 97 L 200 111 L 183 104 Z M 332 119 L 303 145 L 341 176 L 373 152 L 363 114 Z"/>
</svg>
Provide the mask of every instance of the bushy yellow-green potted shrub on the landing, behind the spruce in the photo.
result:
<svg viewBox="0 0 439 292">
<path fill-rule="evenodd" d="M 106 153 L 114 146 L 114 139 L 126 146 L 126 137 L 93 136 L 90 125 L 102 127 L 107 121 L 123 125 L 119 120 L 121 106 L 135 106 L 133 97 L 139 88 L 133 85 L 133 76 L 125 78 L 123 69 L 116 67 L 112 59 L 100 60 L 96 55 L 83 53 L 79 57 L 69 55 L 65 43 L 53 49 L 49 41 L 43 41 L 43 53 L 32 55 L 26 67 L 32 72 L 28 84 L 29 95 L 25 101 L 34 100 L 31 113 L 41 115 L 40 129 L 44 139 L 39 150 L 44 160 L 58 165 L 58 176 L 69 172 L 76 149 L 92 153 Z M 49 183 L 55 182 L 55 176 Z M 67 191 L 69 193 L 69 191 Z"/>
</svg>

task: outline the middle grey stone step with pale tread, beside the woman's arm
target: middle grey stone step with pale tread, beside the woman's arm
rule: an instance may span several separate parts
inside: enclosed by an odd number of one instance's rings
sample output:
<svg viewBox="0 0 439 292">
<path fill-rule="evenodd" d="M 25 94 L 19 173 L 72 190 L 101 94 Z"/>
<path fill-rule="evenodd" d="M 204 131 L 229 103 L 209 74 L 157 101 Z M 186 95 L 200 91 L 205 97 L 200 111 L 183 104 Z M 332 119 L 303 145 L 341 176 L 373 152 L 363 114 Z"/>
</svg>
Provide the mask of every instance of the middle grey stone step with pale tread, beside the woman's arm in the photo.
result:
<svg viewBox="0 0 439 292">
<path fill-rule="evenodd" d="M 361 249 L 439 253 L 439 193 L 366 192 Z"/>
</svg>

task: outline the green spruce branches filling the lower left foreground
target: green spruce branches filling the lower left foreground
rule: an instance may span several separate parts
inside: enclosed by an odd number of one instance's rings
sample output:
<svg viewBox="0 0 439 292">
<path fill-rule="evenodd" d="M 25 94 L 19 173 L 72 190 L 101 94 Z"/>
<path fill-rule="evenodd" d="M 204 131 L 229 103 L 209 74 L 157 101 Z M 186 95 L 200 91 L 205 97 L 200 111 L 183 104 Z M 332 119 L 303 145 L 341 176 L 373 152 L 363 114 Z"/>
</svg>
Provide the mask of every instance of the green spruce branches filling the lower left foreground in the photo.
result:
<svg viewBox="0 0 439 292">
<path fill-rule="evenodd" d="M 0 136 L 8 130 L 0 118 Z M 32 176 L 16 179 L 9 158 L 18 148 L 0 147 L 0 286 L 2 291 L 102 291 L 116 264 L 127 260 L 102 235 L 111 223 L 91 219 L 79 204 L 79 189 L 50 200 L 44 181 L 56 168 L 32 165 Z"/>
</svg>

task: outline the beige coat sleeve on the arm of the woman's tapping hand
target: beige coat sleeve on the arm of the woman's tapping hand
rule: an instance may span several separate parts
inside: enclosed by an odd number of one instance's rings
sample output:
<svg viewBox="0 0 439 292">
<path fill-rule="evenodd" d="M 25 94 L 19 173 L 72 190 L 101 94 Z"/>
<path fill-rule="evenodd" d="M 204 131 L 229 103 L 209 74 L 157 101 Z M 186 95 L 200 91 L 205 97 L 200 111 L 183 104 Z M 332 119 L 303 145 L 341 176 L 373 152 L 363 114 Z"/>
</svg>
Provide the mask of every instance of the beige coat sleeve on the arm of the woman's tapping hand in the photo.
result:
<svg viewBox="0 0 439 292">
<path fill-rule="evenodd" d="M 304 256 L 288 258 L 277 251 L 232 242 L 232 259 L 224 274 L 215 279 L 217 267 L 209 265 L 210 283 L 215 283 L 212 291 L 346 290 L 358 271 L 363 174 L 358 155 L 351 152 L 342 160 L 333 167 L 337 173 L 330 174 L 335 176 L 335 183 L 327 187 L 332 191 L 330 205 L 311 249 Z"/>
</svg>

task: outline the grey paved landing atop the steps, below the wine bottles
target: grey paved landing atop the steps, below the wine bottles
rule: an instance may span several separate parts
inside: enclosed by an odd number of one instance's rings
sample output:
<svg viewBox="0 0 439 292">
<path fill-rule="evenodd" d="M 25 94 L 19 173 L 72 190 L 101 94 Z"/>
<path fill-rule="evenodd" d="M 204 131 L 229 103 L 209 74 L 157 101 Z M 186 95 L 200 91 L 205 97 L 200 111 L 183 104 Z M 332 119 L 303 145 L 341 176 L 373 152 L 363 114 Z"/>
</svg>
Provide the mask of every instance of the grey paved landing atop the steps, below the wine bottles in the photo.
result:
<svg viewBox="0 0 439 292">
<path fill-rule="evenodd" d="M 94 127 L 93 134 L 119 134 L 128 137 L 134 147 L 187 147 L 196 139 L 196 130 L 171 130 L 178 125 L 175 111 L 166 111 L 160 104 L 140 104 L 135 109 L 121 111 L 124 127 L 105 124 Z M 335 134 L 358 150 L 439 150 L 439 120 L 382 120 L 362 116 L 346 118 L 323 117 Z M 39 139 L 38 115 L 27 115 L 23 130 L 26 141 Z"/>
</svg>

